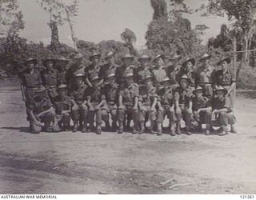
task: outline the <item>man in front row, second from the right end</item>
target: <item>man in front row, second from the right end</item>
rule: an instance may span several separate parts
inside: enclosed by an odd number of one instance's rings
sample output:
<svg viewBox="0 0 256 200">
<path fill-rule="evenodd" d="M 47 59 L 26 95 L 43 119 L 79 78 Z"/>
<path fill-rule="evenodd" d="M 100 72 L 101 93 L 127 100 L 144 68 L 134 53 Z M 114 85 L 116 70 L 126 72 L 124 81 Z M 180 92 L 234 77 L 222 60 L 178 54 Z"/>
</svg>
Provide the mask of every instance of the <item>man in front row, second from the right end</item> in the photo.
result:
<svg viewBox="0 0 256 200">
<path fill-rule="evenodd" d="M 201 86 L 197 86 L 193 94 L 195 95 L 195 97 L 192 98 L 194 118 L 198 122 L 200 129 L 202 128 L 202 124 L 206 125 L 205 134 L 209 135 L 212 110 L 210 99 L 202 96 L 203 88 Z"/>
</svg>

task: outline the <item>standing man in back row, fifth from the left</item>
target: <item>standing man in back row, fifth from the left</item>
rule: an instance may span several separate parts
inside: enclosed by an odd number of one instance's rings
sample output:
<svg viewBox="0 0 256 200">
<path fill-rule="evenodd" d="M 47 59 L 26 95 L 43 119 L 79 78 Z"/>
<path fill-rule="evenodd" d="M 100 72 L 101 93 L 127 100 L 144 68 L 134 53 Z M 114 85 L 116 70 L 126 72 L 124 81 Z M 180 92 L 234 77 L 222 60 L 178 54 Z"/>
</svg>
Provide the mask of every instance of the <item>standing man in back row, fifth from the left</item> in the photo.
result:
<svg viewBox="0 0 256 200">
<path fill-rule="evenodd" d="M 91 79 L 95 75 L 99 75 L 99 72 L 102 68 L 102 66 L 99 65 L 99 61 L 101 58 L 101 55 L 99 52 L 94 52 L 90 55 L 89 60 L 91 62 L 90 66 L 86 67 L 86 84 L 88 86 L 92 86 Z"/>
</svg>

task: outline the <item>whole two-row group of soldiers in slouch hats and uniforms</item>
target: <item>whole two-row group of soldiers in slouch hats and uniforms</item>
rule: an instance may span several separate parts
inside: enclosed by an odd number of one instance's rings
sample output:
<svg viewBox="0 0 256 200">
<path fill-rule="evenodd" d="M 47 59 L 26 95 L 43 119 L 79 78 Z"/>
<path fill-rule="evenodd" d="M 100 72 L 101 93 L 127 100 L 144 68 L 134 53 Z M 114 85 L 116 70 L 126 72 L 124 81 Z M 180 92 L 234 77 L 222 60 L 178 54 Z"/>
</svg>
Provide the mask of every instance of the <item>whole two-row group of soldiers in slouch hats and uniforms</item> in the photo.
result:
<svg viewBox="0 0 256 200">
<path fill-rule="evenodd" d="M 174 136 L 194 130 L 209 135 L 218 126 L 218 134 L 226 135 L 230 126 L 232 133 L 237 132 L 229 57 L 220 59 L 219 69 L 210 65 L 209 54 L 198 60 L 198 67 L 194 58 L 181 62 L 178 54 L 169 62 L 162 54 L 142 54 L 138 66 L 132 65 L 132 54 L 122 56 L 122 65 L 114 57 L 109 52 L 102 64 L 102 54 L 94 52 L 90 66 L 84 66 L 84 56 L 78 53 L 69 67 L 66 58 L 46 58 L 42 70 L 38 60 L 27 59 L 19 77 L 30 131 L 102 134 L 104 127 L 119 134 L 130 130 L 161 135 L 164 129 Z M 168 128 L 163 126 L 166 117 Z"/>
</svg>

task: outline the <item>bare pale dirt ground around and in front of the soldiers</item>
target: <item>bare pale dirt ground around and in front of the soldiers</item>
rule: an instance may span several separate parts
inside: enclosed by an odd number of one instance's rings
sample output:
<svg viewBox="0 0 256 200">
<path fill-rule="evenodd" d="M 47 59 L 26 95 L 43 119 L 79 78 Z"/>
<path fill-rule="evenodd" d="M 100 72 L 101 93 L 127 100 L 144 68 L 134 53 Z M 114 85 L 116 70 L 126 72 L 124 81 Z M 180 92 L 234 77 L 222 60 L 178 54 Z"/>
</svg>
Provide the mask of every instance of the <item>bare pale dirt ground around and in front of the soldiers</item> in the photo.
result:
<svg viewBox="0 0 256 200">
<path fill-rule="evenodd" d="M 255 194 L 255 102 L 238 98 L 225 137 L 34 135 L 18 87 L 1 86 L 0 194 Z"/>
</svg>

